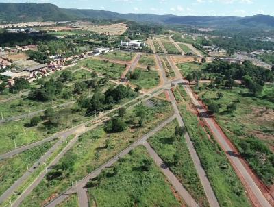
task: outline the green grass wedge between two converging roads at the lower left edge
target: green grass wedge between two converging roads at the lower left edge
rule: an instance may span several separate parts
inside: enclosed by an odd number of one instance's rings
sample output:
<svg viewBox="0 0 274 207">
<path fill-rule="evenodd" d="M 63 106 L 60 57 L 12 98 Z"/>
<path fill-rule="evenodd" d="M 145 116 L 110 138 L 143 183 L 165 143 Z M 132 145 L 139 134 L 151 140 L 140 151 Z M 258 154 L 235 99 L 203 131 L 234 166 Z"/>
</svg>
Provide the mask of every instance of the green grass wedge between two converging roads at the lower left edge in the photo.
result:
<svg viewBox="0 0 274 207">
<path fill-rule="evenodd" d="M 0 161 L 0 195 L 3 194 L 14 182 L 20 178 L 23 173 L 27 171 L 27 164 L 29 167 L 34 165 L 46 151 L 52 147 L 52 144 L 55 143 L 49 142 L 41 146 L 34 147 L 27 151 L 12 156 L 8 159 Z"/>
</svg>

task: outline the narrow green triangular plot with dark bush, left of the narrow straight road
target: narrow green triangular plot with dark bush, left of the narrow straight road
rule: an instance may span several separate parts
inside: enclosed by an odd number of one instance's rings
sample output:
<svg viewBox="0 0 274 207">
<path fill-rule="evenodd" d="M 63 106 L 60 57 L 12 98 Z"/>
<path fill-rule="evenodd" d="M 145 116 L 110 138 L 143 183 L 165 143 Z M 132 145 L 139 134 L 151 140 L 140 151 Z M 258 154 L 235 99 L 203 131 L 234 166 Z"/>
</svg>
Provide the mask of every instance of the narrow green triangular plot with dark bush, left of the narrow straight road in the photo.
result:
<svg viewBox="0 0 274 207">
<path fill-rule="evenodd" d="M 209 206 L 206 193 L 190 157 L 184 137 L 175 135 L 177 121 L 166 125 L 163 130 L 149 138 L 149 143 L 164 162 L 175 173 L 199 206 Z M 175 160 L 175 157 L 176 160 Z"/>
</svg>

